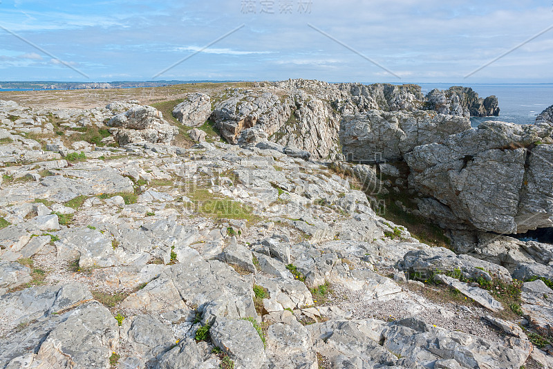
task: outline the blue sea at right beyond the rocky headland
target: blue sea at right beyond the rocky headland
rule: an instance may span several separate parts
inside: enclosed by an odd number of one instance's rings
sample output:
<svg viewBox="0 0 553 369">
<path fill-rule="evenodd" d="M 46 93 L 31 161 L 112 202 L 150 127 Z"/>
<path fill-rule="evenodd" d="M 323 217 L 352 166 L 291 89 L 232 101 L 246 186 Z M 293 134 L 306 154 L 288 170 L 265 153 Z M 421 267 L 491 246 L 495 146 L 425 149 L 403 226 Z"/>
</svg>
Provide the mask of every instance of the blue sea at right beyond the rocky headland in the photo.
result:
<svg viewBox="0 0 553 369">
<path fill-rule="evenodd" d="M 418 84 L 425 95 L 433 88 L 446 90 L 453 84 Z M 472 117 L 472 126 L 487 120 L 516 124 L 534 124 L 536 116 L 553 105 L 553 84 L 458 84 L 471 87 L 478 96 L 496 95 L 500 108 L 498 117 Z"/>
</svg>

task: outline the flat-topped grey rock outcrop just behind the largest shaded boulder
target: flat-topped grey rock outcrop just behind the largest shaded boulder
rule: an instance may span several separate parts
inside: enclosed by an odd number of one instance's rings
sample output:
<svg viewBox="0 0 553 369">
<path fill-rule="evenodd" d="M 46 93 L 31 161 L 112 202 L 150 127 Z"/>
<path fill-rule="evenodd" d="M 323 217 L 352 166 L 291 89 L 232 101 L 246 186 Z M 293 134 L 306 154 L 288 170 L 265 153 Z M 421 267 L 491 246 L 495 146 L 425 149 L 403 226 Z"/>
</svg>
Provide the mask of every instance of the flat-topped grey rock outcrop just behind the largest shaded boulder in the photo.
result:
<svg viewBox="0 0 553 369">
<path fill-rule="evenodd" d="M 415 146 L 443 142 L 449 135 L 470 128 L 470 121 L 464 117 L 429 111 L 374 110 L 344 117 L 339 136 L 348 161 L 395 162 L 403 160 Z"/>
</svg>

